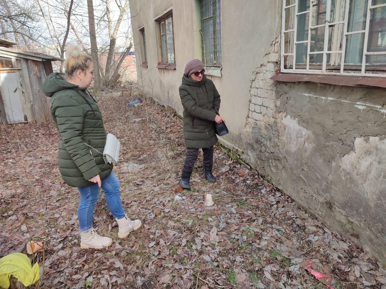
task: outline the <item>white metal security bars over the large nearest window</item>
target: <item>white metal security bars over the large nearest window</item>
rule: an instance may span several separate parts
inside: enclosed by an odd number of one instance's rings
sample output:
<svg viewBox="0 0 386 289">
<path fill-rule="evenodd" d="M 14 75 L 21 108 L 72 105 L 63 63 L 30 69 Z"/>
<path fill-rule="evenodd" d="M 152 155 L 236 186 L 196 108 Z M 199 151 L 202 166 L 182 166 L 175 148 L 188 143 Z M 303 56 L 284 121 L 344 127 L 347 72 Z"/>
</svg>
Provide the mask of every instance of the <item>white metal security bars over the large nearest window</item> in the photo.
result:
<svg viewBox="0 0 386 289">
<path fill-rule="evenodd" d="M 312 6 L 313 2 L 316 2 L 318 0 L 310 0 L 310 8 L 309 10 L 305 12 L 298 12 L 298 0 L 295 0 L 294 4 L 286 6 L 286 0 L 283 0 L 283 10 L 282 10 L 282 18 L 281 18 L 281 72 L 298 72 L 302 74 L 332 74 L 332 75 L 345 75 L 345 76 L 377 76 L 377 77 L 386 77 L 386 74 L 377 74 L 377 73 L 365 73 L 366 71 L 366 55 L 386 55 L 386 51 L 379 51 L 379 52 L 367 52 L 367 42 L 369 38 L 369 27 L 370 27 L 370 12 L 371 9 L 379 8 L 379 7 L 385 7 L 386 4 L 379 4 L 379 5 L 372 5 L 372 0 L 368 0 L 368 6 L 367 6 L 367 17 L 366 17 L 366 28 L 365 30 L 361 31 L 355 31 L 355 32 L 347 32 L 347 25 L 348 25 L 348 20 L 349 20 L 349 4 L 350 0 L 346 0 L 345 3 L 345 16 L 343 21 L 339 22 L 328 22 L 326 21 L 325 24 L 325 35 L 324 35 L 324 47 L 323 51 L 318 51 L 318 52 L 310 52 L 310 43 L 311 43 L 311 29 L 315 29 L 317 27 L 321 27 L 323 25 L 315 25 L 312 26 Z M 295 7 L 295 15 L 294 15 L 294 28 L 285 30 L 285 23 L 286 23 L 286 8 L 291 8 Z M 326 19 L 330 19 L 330 12 L 331 12 L 331 0 L 327 0 L 327 10 L 326 10 Z M 296 41 L 296 32 L 297 32 L 297 16 L 300 14 L 304 13 L 309 13 L 309 21 L 308 21 L 308 40 L 306 41 Z M 335 25 L 335 24 L 344 24 L 344 33 L 343 33 L 343 42 L 342 42 L 342 50 L 339 51 L 328 51 L 328 27 Z M 292 52 L 291 53 L 284 53 L 284 33 L 286 32 L 293 32 L 293 47 L 292 47 Z M 352 72 L 345 72 L 345 70 L 349 70 L 349 68 L 344 69 L 345 63 L 345 49 L 346 49 L 346 37 L 347 35 L 350 34 L 357 34 L 357 33 L 364 33 L 364 47 L 363 47 L 363 55 L 362 55 L 362 64 L 361 65 L 361 72 L 360 73 L 352 73 Z M 297 69 L 296 68 L 296 44 L 299 43 L 307 43 L 307 61 L 306 61 L 306 69 Z M 322 64 L 322 69 L 310 69 L 310 54 L 322 54 L 323 53 L 323 64 Z M 327 54 L 331 53 L 339 53 L 341 54 L 341 60 L 340 60 L 340 72 L 330 72 L 326 71 L 326 66 L 327 66 Z M 292 55 L 293 59 L 293 68 L 286 68 L 284 69 L 284 56 L 285 55 Z M 367 70 L 369 71 L 369 70 Z M 386 71 L 386 68 L 385 68 Z"/>
</svg>

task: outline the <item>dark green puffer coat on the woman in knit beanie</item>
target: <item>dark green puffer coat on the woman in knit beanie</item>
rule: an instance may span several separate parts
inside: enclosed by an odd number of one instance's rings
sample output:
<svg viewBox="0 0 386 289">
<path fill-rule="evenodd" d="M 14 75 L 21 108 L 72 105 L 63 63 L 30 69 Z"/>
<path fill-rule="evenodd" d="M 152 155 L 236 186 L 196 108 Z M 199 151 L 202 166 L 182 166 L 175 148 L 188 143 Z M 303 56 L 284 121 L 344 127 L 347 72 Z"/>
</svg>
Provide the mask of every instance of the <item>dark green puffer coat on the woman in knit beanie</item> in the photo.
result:
<svg viewBox="0 0 386 289">
<path fill-rule="evenodd" d="M 209 148 L 217 142 L 213 128 L 216 114 L 220 109 L 220 94 L 212 80 L 204 75 L 200 82 L 185 74 L 179 87 L 179 96 L 184 107 L 183 129 L 186 148 Z"/>
</svg>

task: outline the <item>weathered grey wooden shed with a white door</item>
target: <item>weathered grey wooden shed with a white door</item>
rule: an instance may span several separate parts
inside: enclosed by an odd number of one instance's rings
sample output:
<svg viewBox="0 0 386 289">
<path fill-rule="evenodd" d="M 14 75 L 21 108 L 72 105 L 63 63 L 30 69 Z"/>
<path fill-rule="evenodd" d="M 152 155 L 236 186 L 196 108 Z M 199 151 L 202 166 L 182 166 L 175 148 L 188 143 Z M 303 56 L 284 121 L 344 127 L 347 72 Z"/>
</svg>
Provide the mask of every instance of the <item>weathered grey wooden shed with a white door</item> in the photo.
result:
<svg viewBox="0 0 386 289">
<path fill-rule="evenodd" d="M 43 82 L 52 73 L 52 61 L 61 58 L 14 49 L 0 39 L 0 121 L 39 123 L 49 119 L 49 99 Z"/>
</svg>

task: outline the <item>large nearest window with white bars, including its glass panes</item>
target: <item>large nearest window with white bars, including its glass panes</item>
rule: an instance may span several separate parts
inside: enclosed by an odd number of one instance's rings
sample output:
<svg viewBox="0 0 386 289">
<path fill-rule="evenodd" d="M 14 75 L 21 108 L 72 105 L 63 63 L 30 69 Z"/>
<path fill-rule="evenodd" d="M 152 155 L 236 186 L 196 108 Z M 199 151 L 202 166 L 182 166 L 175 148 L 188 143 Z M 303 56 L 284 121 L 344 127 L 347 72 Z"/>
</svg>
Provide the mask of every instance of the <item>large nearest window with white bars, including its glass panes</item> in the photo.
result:
<svg viewBox="0 0 386 289">
<path fill-rule="evenodd" d="M 386 0 L 283 0 L 281 71 L 386 77 Z"/>
</svg>

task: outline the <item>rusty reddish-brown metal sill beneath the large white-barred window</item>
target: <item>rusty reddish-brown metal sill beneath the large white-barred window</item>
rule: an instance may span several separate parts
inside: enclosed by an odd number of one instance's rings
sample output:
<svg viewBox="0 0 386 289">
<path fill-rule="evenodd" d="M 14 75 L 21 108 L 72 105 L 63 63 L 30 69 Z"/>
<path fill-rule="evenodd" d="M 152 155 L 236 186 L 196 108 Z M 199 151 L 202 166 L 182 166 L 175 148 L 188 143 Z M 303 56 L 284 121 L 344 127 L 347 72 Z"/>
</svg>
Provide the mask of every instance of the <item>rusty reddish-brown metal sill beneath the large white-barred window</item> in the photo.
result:
<svg viewBox="0 0 386 289">
<path fill-rule="evenodd" d="M 384 77 L 358 77 L 358 76 L 333 76 L 333 75 L 317 75 L 317 74 L 295 74 L 295 73 L 279 73 L 270 78 L 274 81 L 283 82 L 317 82 L 328 83 L 344 86 L 374 86 L 385 87 L 386 78 Z"/>
</svg>

